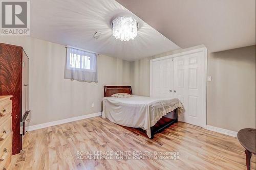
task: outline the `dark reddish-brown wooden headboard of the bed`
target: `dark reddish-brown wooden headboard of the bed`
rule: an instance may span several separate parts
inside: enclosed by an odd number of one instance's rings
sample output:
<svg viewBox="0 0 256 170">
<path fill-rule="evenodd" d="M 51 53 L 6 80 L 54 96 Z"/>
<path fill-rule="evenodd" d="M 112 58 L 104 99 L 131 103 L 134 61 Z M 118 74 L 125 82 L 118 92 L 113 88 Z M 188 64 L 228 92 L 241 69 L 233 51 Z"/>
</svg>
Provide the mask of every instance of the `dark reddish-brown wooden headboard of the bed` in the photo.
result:
<svg viewBox="0 0 256 170">
<path fill-rule="evenodd" d="M 104 86 L 104 97 L 109 97 L 115 93 L 133 94 L 131 86 Z"/>
</svg>

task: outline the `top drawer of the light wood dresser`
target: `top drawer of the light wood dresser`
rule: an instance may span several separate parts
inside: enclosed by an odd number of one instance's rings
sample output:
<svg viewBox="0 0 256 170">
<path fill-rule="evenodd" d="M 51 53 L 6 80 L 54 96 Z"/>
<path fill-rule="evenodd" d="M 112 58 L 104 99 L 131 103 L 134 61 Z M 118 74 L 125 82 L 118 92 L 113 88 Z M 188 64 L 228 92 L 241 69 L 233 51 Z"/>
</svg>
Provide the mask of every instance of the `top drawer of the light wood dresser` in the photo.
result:
<svg viewBox="0 0 256 170">
<path fill-rule="evenodd" d="M 0 103 L 0 125 L 11 115 L 12 101 L 6 100 Z M 1 169 L 0 169 L 1 170 Z"/>
</svg>

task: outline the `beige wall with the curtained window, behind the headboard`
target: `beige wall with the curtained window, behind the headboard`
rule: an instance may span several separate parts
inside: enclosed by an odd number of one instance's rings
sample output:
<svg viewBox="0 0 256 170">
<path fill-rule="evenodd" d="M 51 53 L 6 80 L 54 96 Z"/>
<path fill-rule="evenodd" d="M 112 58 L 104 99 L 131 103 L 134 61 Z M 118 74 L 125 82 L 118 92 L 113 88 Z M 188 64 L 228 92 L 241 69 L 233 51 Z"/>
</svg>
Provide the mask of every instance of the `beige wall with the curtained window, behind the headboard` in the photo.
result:
<svg viewBox="0 0 256 170">
<path fill-rule="evenodd" d="M 131 84 L 130 62 L 121 59 L 98 56 L 99 82 L 78 82 L 63 78 L 65 46 L 24 36 L 1 36 L 0 42 L 23 46 L 30 58 L 30 125 L 100 112 L 103 85 Z"/>
</svg>

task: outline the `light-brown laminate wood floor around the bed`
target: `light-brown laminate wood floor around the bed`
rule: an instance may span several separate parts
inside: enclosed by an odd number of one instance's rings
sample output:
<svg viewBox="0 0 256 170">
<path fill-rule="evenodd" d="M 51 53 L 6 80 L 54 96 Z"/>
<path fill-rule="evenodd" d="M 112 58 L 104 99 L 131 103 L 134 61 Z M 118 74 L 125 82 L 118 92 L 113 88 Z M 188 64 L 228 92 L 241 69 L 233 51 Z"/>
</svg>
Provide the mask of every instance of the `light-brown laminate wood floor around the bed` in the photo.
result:
<svg viewBox="0 0 256 170">
<path fill-rule="evenodd" d="M 10 169 L 246 169 L 244 149 L 237 138 L 181 122 L 151 140 L 137 129 L 93 117 L 30 131 L 24 140 L 24 150 L 13 156 Z M 179 157 L 81 160 L 77 151 L 88 151 L 79 152 L 83 156 L 97 151 L 143 151 L 139 158 L 144 158 L 145 151 L 168 151 Z M 254 155 L 251 169 L 255 169 Z"/>
</svg>

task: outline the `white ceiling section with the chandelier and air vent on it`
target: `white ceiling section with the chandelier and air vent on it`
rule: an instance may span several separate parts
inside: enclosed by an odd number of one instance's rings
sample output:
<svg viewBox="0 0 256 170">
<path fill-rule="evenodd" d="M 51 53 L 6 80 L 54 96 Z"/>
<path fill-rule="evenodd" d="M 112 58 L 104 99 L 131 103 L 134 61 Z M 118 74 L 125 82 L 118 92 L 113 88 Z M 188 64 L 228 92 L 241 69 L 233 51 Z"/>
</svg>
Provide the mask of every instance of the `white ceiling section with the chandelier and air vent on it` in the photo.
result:
<svg viewBox="0 0 256 170">
<path fill-rule="evenodd" d="M 33 0 L 31 36 L 92 52 L 136 60 L 179 48 L 114 0 Z M 111 21 L 119 15 L 133 16 L 139 23 L 134 40 L 123 42 L 112 35 Z M 93 38 L 96 31 L 103 33 Z"/>
</svg>

